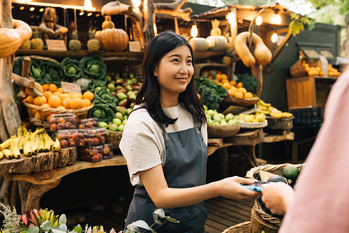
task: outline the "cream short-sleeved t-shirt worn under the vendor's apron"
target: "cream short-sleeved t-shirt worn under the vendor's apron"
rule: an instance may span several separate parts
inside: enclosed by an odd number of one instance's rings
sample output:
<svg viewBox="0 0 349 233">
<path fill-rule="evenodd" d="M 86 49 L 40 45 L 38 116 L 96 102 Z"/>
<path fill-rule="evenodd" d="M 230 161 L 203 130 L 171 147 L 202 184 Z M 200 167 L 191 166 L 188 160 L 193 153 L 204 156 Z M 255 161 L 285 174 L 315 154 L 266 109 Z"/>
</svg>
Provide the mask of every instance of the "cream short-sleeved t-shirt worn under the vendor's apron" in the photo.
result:
<svg viewBox="0 0 349 233">
<path fill-rule="evenodd" d="M 135 105 L 134 109 L 138 107 L 140 105 Z M 163 108 L 163 112 L 172 119 L 178 118 L 174 124 L 170 124 L 166 128 L 168 133 L 194 127 L 192 114 L 181 104 L 176 107 Z M 206 123 L 201 127 L 201 134 L 207 145 Z M 133 186 L 142 185 L 139 171 L 148 170 L 161 163 L 165 164 L 166 150 L 163 131 L 145 108 L 130 114 L 119 147 L 126 158 L 128 173 Z"/>
</svg>

